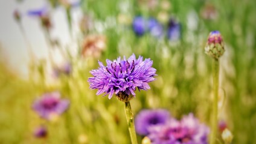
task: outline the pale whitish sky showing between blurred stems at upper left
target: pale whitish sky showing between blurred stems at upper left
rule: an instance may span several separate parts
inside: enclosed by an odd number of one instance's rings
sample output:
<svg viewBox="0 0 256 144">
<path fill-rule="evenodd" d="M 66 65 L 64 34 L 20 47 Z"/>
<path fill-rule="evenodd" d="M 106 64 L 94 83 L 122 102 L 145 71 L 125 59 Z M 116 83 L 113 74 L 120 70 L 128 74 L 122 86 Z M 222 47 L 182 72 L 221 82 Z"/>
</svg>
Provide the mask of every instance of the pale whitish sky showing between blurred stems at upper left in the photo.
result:
<svg viewBox="0 0 256 144">
<path fill-rule="evenodd" d="M 22 25 L 36 57 L 46 58 L 48 45 L 40 22 L 35 17 L 28 16 L 27 11 L 42 8 L 47 4 L 46 0 L 25 0 L 23 2 L 0 0 L 0 56 L 4 56 L 8 66 L 18 71 L 22 77 L 27 77 L 29 57 L 27 44 L 22 37 L 18 23 L 14 20 L 13 12 L 14 10 L 21 12 Z M 72 18 L 73 37 L 75 38 L 79 31 L 78 22 L 82 19 L 82 10 L 78 7 L 73 8 Z M 51 20 L 54 27 L 51 31 L 52 37 L 57 38 L 62 46 L 75 49 L 77 46 L 74 43 L 75 40 L 71 40 L 69 35 L 65 9 L 63 7 L 54 9 L 51 12 Z M 56 55 L 55 58 L 58 59 L 58 56 Z"/>
</svg>

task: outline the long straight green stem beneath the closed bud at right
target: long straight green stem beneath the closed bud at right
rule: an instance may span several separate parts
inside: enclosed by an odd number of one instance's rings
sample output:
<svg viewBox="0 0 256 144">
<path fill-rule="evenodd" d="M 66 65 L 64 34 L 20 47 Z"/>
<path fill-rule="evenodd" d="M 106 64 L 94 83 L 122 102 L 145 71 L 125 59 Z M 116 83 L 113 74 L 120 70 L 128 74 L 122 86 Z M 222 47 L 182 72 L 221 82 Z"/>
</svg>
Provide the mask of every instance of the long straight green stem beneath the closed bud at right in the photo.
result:
<svg viewBox="0 0 256 144">
<path fill-rule="evenodd" d="M 219 95 L 219 60 L 213 60 L 213 115 L 211 119 L 210 144 L 216 143 L 218 122 L 218 95 Z"/>
</svg>

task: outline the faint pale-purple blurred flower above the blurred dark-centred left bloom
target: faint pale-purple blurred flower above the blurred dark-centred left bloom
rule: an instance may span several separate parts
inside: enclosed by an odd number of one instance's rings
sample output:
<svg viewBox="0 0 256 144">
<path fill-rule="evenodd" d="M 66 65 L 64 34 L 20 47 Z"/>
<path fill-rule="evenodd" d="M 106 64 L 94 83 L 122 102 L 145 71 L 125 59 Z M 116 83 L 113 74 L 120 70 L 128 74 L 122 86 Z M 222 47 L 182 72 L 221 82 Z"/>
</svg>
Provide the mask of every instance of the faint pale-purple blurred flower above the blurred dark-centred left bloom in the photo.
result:
<svg viewBox="0 0 256 144">
<path fill-rule="evenodd" d="M 66 62 L 64 65 L 60 67 L 53 68 L 53 74 L 55 77 L 59 77 L 61 74 L 69 76 L 72 72 L 72 65 L 70 62 Z"/>
</svg>

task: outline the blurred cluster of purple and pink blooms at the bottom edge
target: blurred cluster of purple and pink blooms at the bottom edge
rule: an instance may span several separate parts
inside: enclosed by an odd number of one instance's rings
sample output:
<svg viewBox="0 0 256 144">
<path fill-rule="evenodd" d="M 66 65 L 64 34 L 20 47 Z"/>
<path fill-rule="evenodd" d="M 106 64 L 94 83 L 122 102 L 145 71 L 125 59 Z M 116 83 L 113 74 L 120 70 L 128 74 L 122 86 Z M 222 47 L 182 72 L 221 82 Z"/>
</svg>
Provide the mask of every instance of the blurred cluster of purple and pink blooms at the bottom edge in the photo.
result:
<svg viewBox="0 0 256 144">
<path fill-rule="evenodd" d="M 135 126 L 137 133 L 149 137 L 152 144 L 204 144 L 210 132 L 192 113 L 178 121 L 165 110 L 143 110 L 136 116 Z"/>
</svg>

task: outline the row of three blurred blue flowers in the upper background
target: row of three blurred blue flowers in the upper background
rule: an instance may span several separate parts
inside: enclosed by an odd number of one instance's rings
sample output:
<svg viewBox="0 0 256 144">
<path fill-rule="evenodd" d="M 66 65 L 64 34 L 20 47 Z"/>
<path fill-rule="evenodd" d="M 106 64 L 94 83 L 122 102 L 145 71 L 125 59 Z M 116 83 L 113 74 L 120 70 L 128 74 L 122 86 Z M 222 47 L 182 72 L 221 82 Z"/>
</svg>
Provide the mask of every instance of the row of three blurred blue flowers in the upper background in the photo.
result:
<svg viewBox="0 0 256 144">
<path fill-rule="evenodd" d="M 181 23 L 171 18 L 167 23 L 165 32 L 164 26 L 153 17 L 146 19 L 142 16 L 137 16 L 133 19 L 132 28 L 136 35 L 142 36 L 149 32 L 153 37 L 163 37 L 164 35 L 171 41 L 176 41 L 181 38 Z"/>
</svg>

